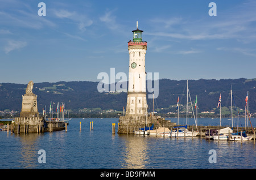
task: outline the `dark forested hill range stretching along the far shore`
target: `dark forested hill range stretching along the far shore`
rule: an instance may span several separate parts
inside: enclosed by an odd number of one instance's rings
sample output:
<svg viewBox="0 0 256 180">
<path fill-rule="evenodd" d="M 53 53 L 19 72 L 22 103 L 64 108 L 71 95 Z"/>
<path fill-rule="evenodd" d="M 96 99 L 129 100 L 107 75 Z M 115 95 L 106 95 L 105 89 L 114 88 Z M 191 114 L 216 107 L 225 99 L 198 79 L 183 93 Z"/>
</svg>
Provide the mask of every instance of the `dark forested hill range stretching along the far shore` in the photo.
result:
<svg viewBox="0 0 256 180">
<path fill-rule="evenodd" d="M 114 109 L 122 111 L 126 108 L 127 93 L 106 93 L 97 91 L 98 82 L 56 82 L 35 83 L 33 93 L 38 95 L 38 110 L 50 102 L 64 102 L 66 109 L 77 112 L 84 108 Z M 155 99 L 155 108 L 163 113 L 175 112 L 177 97 L 180 104 L 185 105 L 187 100 L 187 80 L 159 80 L 159 96 Z M 10 109 L 20 111 L 22 95 L 25 94 L 27 84 L 1 83 L 0 110 Z M 153 85 L 154 87 L 154 85 Z M 249 109 L 256 112 L 256 79 L 221 79 L 221 80 L 189 80 L 189 92 L 193 105 L 196 95 L 200 112 L 210 111 L 217 107 L 220 93 L 222 106 L 230 106 L 230 89 L 233 89 L 236 107 L 245 108 L 245 97 L 249 91 Z M 149 111 L 152 110 L 152 99 L 147 100 Z M 234 105 L 233 105 L 234 106 Z"/>
</svg>

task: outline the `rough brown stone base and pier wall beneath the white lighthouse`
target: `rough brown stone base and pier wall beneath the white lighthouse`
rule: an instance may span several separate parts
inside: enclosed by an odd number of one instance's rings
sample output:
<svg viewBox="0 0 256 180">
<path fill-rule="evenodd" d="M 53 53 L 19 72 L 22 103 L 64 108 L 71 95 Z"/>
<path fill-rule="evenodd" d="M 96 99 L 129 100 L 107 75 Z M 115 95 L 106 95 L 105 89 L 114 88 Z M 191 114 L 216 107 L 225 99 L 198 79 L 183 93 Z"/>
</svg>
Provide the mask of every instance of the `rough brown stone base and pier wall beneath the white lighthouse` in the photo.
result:
<svg viewBox="0 0 256 180">
<path fill-rule="evenodd" d="M 119 134 L 133 134 L 134 130 L 138 130 L 139 128 L 144 128 L 145 125 L 150 127 L 154 125 L 154 129 L 158 127 L 168 127 L 168 123 L 171 121 L 166 121 L 165 118 L 161 118 L 159 116 L 120 116 L 118 123 L 118 131 Z"/>
</svg>

